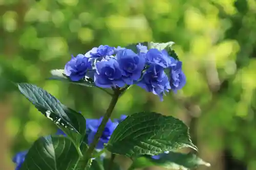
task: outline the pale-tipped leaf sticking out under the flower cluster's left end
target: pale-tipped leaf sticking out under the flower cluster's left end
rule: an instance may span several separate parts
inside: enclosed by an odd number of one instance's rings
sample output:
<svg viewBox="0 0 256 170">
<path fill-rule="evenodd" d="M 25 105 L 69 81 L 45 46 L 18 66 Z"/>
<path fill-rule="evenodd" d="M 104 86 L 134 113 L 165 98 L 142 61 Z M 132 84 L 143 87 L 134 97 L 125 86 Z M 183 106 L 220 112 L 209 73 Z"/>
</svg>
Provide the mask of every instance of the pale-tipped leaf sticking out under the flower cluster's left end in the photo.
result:
<svg viewBox="0 0 256 170">
<path fill-rule="evenodd" d="M 63 72 L 64 72 L 63 69 L 53 69 L 53 70 L 51 70 L 52 77 L 49 78 L 49 80 L 61 80 L 63 82 L 77 84 L 77 85 L 81 85 L 81 86 L 96 87 L 93 80 L 89 77 L 86 77 L 86 78 L 84 78 L 82 80 L 79 80 L 77 82 L 73 82 Z"/>
</svg>

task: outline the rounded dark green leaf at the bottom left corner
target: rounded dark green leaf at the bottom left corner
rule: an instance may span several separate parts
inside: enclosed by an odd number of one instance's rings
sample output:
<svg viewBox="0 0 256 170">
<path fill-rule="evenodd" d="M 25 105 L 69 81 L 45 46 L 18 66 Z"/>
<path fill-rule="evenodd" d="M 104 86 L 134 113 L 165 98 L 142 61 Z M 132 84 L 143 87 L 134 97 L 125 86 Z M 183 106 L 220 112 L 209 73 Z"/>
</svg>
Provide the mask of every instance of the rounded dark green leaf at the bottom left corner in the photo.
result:
<svg viewBox="0 0 256 170">
<path fill-rule="evenodd" d="M 81 163 L 71 140 L 63 136 L 47 136 L 33 143 L 21 170 L 74 170 L 81 169 Z"/>
</svg>

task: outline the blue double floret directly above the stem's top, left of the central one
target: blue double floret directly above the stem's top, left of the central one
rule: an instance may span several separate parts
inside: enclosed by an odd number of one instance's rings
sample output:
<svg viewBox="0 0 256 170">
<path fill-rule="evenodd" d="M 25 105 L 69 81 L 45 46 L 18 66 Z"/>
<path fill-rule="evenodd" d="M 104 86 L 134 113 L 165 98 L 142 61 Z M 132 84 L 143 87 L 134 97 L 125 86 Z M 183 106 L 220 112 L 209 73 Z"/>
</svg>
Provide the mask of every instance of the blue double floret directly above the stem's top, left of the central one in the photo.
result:
<svg viewBox="0 0 256 170">
<path fill-rule="evenodd" d="M 102 88 L 123 87 L 125 83 L 118 62 L 112 58 L 97 62 L 94 83 Z"/>
</svg>

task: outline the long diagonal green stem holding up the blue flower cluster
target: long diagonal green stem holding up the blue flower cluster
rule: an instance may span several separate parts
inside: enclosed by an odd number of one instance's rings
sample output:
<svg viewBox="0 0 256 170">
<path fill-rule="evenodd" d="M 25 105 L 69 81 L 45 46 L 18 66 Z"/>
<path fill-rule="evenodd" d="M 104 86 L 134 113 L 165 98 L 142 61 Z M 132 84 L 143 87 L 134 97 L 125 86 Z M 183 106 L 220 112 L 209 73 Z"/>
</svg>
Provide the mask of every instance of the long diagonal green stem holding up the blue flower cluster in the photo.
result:
<svg viewBox="0 0 256 170">
<path fill-rule="evenodd" d="M 106 113 L 104 114 L 103 118 L 102 118 L 102 122 L 98 128 L 98 131 L 96 132 L 95 136 L 94 136 L 94 139 L 93 139 L 93 142 L 91 143 L 89 149 L 87 150 L 85 156 L 86 156 L 86 159 L 85 159 L 85 162 L 86 163 L 85 165 L 87 166 L 89 160 L 92 158 L 93 156 L 93 151 L 96 147 L 96 145 L 98 144 L 99 142 L 99 139 L 104 131 L 104 128 L 106 126 L 106 123 L 108 123 L 108 120 L 112 114 L 112 111 L 114 110 L 115 106 L 116 106 L 116 103 L 118 101 L 118 98 L 119 98 L 119 95 L 120 95 L 120 89 L 119 88 L 116 88 L 116 89 L 113 89 L 114 90 L 114 94 L 112 95 L 112 100 L 110 102 L 110 105 L 109 105 L 109 108 L 106 110 Z"/>
</svg>

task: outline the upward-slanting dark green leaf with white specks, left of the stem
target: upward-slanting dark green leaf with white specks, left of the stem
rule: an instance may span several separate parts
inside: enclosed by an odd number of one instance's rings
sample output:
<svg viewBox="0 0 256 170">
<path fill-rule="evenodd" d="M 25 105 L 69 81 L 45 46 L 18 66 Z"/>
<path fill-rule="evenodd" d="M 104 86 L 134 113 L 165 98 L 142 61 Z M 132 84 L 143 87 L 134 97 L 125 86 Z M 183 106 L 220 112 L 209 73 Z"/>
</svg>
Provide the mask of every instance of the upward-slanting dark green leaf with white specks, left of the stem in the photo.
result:
<svg viewBox="0 0 256 170">
<path fill-rule="evenodd" d="M 62 105 L 53 95 L 36 85 L 20 83 L 18 89 L 79 147 L 86 134 L 86 119 L 80 113 Z"/>
</svg>

